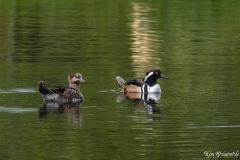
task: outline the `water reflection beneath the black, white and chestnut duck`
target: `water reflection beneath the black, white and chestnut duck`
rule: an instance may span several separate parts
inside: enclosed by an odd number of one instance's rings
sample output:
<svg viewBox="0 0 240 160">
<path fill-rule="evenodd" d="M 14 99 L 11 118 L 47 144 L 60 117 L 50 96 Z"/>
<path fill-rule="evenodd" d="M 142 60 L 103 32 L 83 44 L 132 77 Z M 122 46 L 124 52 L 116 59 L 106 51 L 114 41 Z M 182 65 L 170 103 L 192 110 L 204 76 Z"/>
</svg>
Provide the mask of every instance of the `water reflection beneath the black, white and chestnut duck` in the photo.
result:
<svg viewBox="0 0 240 160">
<path fill-rule="evenodd" d="M 160 114 L 160 106 L 158 101 L 161 98 L 161 93 L 137 93 L 137 92 L 124 92 L 117 97 L 117 102 L 122 102 L 128 99 L 134 103 L 140 103 L 145 107 L 149 116 Z"/>
</svg>

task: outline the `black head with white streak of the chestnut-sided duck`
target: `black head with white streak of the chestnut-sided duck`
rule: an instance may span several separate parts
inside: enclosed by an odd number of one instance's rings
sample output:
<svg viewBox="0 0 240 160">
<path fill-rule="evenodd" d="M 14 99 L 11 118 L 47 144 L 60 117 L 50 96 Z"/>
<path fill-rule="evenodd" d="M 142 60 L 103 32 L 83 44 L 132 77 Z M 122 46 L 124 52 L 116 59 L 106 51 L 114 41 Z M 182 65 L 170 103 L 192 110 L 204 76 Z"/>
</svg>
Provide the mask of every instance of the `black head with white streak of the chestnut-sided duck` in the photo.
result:
<svg viewBox="0 0 240 160">
<path fill-rule="evenodd" d="M 143 81 L 149 85 L 154 85 L 158 78 L 169 79 L 162 74 L 162 71 L 159 68 L 153 68 L 146 73 Z"/>
</svg>

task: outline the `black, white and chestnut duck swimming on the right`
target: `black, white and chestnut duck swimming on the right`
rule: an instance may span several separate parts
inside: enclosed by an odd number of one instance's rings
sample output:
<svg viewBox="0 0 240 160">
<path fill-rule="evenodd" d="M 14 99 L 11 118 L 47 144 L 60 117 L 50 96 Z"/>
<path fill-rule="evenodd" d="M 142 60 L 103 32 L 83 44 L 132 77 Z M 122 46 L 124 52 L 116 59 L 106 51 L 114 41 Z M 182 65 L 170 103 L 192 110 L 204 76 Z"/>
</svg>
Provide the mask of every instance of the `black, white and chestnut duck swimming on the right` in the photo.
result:
<svg viewBox="0 0 240 160">
<path fill-rule="evenodd" d="M 138 93 L 161 93 L 161 87 L 157 83 L 158 78 L 169 79 L 164 76 L 159 68 L 154 68 L 148 71 L 143 80 L 129 80 L 125 81 L 123 78 L 117 76 L 118 83 L 123 87 L 124 92 L 138 92 Z"/>
</svg>

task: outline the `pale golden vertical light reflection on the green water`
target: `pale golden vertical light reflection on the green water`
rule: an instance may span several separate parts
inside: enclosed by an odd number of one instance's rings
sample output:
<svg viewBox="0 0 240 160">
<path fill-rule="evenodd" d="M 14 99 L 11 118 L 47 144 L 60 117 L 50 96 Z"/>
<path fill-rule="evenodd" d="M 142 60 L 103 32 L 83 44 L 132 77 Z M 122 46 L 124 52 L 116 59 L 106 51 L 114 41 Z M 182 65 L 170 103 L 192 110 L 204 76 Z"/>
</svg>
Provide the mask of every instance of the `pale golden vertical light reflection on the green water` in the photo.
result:
<svg viewBox="0 0 240 160">
<path fill-rule="evenodd" d="M 149 13 L 152 11 L 144 3 L 132 3 L 132 66 L 137 77 L 142 77 L 143 72 L 149 68 L 158 67 L 160 58 L 156 56 L 159 40 L 157 33 L 151 28 Z"/>
</svg>

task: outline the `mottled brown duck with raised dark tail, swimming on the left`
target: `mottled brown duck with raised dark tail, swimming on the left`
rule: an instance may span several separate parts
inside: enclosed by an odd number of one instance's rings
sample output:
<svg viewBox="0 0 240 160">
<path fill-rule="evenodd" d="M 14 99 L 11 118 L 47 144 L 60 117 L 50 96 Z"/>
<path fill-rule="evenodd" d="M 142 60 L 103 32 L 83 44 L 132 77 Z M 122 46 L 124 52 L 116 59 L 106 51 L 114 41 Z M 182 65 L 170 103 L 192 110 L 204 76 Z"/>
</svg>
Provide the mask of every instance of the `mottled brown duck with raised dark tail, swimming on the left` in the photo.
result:
<svg viewBox="0 0 240 160">
<path fill-rule="evenodd" d="M 38 90 L 44 97 L 44 101 L 51 102 L 80 102 L 84 96 L 80 91 L 80 83 L 86 82 L 82 74 L 74 73 L 68 75 L 69 86 L 60 86 L 54 89 L 48 88 L 44 81 L 38 82 Z"/>
</svg>

